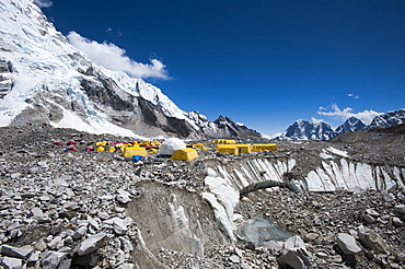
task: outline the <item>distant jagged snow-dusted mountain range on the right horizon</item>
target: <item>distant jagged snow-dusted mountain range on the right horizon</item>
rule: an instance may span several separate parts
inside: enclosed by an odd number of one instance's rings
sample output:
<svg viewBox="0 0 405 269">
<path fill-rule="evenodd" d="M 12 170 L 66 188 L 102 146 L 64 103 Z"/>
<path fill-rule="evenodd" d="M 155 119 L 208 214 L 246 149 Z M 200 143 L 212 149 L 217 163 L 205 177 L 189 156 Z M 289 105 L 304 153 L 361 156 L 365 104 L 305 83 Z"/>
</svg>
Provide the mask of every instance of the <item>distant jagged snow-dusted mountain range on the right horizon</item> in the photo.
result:
<svg viewBox="0 0 405 269">
<path fill-rule="evenodd" d="M 364 125 L 360 119 L 350 117 L 335 130 L 332 126 L 323 120 L 308 121 L 303 119 L 296 120 L 287 130 L 277 139 L 290 140 L 323 140 L 327 141 L 335 137 L 361 131 L 370 128 L 385 128 L 405 124 L 405 109 L 389 112 L 374 117 L 370 125 Z"/>
</svg>

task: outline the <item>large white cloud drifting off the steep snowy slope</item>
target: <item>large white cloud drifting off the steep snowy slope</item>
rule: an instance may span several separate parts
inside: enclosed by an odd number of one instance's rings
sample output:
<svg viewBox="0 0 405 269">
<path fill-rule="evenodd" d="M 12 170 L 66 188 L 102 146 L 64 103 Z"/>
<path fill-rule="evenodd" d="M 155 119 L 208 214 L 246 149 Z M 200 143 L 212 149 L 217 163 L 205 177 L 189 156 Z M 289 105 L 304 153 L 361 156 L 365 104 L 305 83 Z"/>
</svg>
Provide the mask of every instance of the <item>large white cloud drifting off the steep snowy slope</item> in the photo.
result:
<svg viewBox="0 0 405 269">
<path fill-rule="evenodd" d="M 169 79 L 165 66 L 157 59 L 151 59 L 150 63 L 137 62 L 125 55 L 125 49 L 112 43 L 100 44 L 90 40 L 76 32 L 70 32 L 68 39 L 71 45 L 85 52 L 93 62 L 106 69 L 124 71 L 136 78 Z"/>
</svg>

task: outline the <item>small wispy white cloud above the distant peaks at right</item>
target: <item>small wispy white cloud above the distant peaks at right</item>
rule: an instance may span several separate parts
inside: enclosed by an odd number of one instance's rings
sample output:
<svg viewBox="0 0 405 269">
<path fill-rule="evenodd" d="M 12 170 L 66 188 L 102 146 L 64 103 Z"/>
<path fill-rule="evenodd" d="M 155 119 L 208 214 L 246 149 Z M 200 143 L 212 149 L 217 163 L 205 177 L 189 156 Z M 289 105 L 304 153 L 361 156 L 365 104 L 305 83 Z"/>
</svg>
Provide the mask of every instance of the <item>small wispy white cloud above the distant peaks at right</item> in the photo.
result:
<svg viewBox="0 0 405 269">
<path fill-rule="evenodd" d="M 366 125 L 371 124 L 372 119 L 380 115 L 381 113 L 374 112 L 374 110 L 363 110 L 359 113 L 354 113 L 352 108 L 346 107 L 345 109 L 340 109 L 336 104 L 332 105 L 332 110 L 329 110 L 327 107 L 320 107 L 317 114 L 324 115 L 324 116 L 334 116 L 342 120 L 346 120 L 350 117 L 356 117 L 364 121 Z"/>
</svg>

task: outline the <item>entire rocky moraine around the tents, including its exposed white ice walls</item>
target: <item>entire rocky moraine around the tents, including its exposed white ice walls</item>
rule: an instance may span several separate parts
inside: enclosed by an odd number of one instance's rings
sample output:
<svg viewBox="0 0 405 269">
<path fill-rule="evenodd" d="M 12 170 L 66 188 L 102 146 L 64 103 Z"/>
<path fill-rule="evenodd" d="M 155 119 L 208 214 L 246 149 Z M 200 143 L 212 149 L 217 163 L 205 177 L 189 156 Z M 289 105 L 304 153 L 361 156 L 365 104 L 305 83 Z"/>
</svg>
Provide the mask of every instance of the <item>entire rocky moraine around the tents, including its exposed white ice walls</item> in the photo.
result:
<svg viewBox="0 0 405 269">
<path fill-rule="evenodd" d="M 331 142 L 276 141 L 279 151 L 267 153 L 198 151 L 190 162 L 83 151 L 130 138 L 43 125 L 1 128 L 0 262 L 405 268 L 401 128 Z M 66 151 L 69 141 L 77 152 Z M 274 226 L 246 224 L 257 220 Z M 287 236 L 278 241 L 280 231 Z"/>
</svg>

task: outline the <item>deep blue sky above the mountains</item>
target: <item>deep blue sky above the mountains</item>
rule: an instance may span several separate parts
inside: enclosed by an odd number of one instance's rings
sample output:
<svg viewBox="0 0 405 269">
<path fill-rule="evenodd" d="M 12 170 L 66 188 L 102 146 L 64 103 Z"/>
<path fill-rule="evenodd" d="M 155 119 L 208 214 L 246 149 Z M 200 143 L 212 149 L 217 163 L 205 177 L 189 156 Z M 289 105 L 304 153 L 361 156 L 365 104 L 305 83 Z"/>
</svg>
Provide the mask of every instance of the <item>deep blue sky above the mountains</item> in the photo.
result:
<svg viewBox="0 0 405 269">
<path fill-rule="evenodd" d="M 36 2 L 63 35 L 124 49 L 146 70 L 132 75 L 210 120 L 274 134 L 405 107 L 404 0 Z"/>
</svg>

